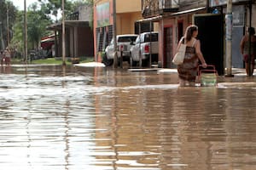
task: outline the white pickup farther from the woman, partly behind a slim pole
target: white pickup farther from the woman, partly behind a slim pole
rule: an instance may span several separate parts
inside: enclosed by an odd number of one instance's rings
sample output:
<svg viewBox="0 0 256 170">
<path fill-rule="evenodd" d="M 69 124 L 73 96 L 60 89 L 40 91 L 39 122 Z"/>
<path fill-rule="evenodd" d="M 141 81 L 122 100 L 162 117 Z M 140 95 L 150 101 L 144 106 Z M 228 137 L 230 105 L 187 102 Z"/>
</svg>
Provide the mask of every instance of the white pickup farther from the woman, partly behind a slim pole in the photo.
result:
<svg viewBox="0 0 256 170">
<path fill-rule="evenodd" d="M 124 35 L 118 35 L 116 37 L 118 59 L 120 59 L 120 55 L 121 55 L 120 50 L 122 50 L 123 61 L 130 62 L 130 48 L 134 44 L 137 37 L 138 37 L 137 34 L 124 34 Z M 112 39 L 108 47 L 105 49 L 106 57 L 102 61 L 107 66 L 113 65 L 113 57 L 114 57 L 113 49 L 114 48 L 113 48 L 113 39 Z"/>
</svg>

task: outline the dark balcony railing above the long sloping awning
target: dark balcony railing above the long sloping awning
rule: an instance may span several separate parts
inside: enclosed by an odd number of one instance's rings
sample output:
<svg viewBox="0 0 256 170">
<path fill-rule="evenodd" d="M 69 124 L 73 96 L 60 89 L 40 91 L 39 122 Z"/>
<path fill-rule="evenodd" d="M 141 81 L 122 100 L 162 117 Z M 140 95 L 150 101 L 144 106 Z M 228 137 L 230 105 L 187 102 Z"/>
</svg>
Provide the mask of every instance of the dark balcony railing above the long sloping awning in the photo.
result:
<svg viewBox="0 0 256 170">
<path fill-rule="evenodd" d="M 143 17 L 164 14 L 167 12 L 177 12 L 179 0 L 142 0 Z"/>
</svg>

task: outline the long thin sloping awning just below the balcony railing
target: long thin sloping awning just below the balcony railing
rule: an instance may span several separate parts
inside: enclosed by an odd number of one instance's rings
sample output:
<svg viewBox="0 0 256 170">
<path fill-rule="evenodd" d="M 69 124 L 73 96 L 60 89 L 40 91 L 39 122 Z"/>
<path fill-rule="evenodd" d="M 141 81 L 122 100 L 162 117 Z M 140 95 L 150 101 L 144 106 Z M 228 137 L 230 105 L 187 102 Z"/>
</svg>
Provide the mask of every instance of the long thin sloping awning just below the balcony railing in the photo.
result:
<svg viewBox="0 0 256 170">
<path fill-rule="evenodd" d="M 203 11 L 203 10 L 206 10 L 206 9 L 207 9 L 206 7 L 192 8 L 192 9 L 189 9 L 189 10 L 179 11 L 177 13 L 164 14 L 164 15 L 154 16 L 154 17 L 151 17 L 151 18 L 143 19 L 143 20 L 137 20 L 137 22 L 159 22 L 160 20 L 162 20 L 166 17 L 174 17 L 174 16 L 181 15 L 181 14 L 190 14 L 190 13 Z"/>
</svg>

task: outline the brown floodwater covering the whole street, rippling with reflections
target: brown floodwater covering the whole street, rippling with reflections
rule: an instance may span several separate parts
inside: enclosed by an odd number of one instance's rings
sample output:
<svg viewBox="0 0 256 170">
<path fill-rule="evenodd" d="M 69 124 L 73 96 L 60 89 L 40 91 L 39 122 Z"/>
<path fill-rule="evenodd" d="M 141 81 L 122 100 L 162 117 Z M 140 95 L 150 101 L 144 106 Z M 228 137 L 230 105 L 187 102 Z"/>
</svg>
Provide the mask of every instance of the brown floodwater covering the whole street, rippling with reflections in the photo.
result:
<svg viewBox="0 0 256 170">
<path fill-rule="evenodd" d="M 254 170 L 256 77 L 55 65 L 0 72 L 4 170 Z"/>
</svg>

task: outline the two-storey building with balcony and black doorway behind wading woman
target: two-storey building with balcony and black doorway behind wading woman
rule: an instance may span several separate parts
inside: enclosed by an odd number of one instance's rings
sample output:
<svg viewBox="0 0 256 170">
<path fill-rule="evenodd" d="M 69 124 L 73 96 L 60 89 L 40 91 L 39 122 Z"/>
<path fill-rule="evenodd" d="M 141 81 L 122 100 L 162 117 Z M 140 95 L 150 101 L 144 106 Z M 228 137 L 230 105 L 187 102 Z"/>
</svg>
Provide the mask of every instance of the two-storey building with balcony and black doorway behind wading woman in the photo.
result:
<svg viewBox="0 0 256 170">
<path fill-rule="evenodd" d="M 242 67 L 239 42 L 249 26 L 249 3 L 252 3 L 252 18 L 255 17 L 255 1 L 233 0 L 232 63 Z M 177 42 L 187 26 L 199 25 L 199 39 L 202 52 L 208 64 L 217 65 L 218 72 L 224 73 L 225 65 L 225 19 L 226 0 L 142 0 L 143 22 L 159 24 L 159 61 L 162 67 L 174 68 L 172 56 L 176 53 Z M 251 20 L 256 26 L 255 20 Z"/>
</svg>

